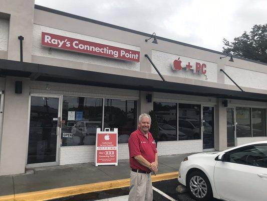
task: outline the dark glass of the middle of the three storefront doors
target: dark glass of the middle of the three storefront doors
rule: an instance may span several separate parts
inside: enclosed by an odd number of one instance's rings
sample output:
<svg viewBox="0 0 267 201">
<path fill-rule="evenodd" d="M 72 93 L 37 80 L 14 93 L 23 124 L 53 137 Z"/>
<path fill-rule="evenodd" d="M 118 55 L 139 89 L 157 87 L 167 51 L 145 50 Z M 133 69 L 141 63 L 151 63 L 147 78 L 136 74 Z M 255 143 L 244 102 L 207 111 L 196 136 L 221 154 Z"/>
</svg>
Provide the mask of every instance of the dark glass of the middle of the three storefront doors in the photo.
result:
<svg viewBox="0 0 267 201">
<path fill-rule="evenodd" d="M 203 107 L 203 149 L 214 149 L 214 107 Z"/>
</svg>

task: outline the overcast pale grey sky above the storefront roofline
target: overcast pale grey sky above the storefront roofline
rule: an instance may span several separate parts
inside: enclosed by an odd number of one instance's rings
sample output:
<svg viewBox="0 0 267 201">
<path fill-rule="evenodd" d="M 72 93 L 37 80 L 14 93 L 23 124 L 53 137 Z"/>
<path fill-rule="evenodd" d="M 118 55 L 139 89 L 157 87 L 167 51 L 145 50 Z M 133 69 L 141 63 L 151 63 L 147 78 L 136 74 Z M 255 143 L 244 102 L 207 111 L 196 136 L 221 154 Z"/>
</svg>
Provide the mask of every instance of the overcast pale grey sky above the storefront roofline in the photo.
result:
<svg viewBox="0 0 267 201">
<path fill-rule="evenodd" d="M 86 18 L 222 51 L 255 24 L 267 23 L 267 0 L 36 0 Z"/>
</svg>

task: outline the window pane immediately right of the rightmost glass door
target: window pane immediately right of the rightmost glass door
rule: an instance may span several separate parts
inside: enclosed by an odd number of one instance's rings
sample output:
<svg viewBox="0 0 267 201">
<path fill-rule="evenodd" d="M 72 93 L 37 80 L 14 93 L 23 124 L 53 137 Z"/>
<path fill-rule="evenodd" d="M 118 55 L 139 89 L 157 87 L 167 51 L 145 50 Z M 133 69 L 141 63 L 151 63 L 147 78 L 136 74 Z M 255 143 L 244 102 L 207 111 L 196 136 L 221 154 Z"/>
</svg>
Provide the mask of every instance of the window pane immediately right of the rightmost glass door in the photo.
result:
<svg viewBox="0 0 267 201">
<path fill-rule="evenodd" d="M 236 137 L 251 137 L 250 108 L 236 107 Z"/>
</svg>

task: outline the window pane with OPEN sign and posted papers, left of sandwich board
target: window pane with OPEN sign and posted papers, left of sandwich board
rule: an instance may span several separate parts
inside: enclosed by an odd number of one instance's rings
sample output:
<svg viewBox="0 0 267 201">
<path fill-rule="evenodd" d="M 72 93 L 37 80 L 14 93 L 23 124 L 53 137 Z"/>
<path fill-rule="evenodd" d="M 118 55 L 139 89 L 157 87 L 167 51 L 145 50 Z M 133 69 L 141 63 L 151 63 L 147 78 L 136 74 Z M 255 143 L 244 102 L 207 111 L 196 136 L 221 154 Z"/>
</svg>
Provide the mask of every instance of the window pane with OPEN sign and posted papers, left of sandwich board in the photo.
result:
<svg viewBox="0 0 267 201">
<path fill-rule="evenodd" d="M 95 145 L 102 116 L 102 98 L 63 96 L 62 146 Z"/>
</svg>

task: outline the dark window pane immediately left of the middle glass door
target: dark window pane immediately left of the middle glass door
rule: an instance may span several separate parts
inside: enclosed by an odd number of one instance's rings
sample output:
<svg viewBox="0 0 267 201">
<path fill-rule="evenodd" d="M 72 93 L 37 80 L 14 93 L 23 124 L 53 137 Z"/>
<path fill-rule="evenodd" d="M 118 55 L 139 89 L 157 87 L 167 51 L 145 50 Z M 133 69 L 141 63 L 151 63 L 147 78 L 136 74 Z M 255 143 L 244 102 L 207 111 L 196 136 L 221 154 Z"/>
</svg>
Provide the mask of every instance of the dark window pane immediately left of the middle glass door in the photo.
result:
<svg viewBox="0 0 267 201">
<path fill-rule="evenodd" d="M 200 105 L 178 105 L 178 140 L 201 139 L 201 108 Z"/>
</svg>

